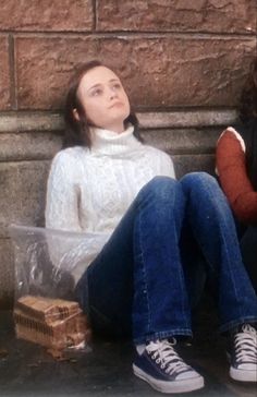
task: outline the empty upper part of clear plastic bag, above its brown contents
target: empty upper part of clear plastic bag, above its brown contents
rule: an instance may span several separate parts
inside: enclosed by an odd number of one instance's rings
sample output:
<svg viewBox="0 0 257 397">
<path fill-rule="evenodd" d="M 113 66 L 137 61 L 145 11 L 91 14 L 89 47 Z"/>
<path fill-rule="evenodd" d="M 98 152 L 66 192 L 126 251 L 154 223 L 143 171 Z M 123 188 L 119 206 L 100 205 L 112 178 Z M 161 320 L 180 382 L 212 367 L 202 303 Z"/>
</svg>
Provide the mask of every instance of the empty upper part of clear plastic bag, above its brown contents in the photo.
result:
<svg viewBox="0 0 257 397">
<path fill-rule="evenodd" d="M 72 299 L 74 288 L 108 234 L 11 225 L 15 300 L 25 294 Z"/>
</svg>

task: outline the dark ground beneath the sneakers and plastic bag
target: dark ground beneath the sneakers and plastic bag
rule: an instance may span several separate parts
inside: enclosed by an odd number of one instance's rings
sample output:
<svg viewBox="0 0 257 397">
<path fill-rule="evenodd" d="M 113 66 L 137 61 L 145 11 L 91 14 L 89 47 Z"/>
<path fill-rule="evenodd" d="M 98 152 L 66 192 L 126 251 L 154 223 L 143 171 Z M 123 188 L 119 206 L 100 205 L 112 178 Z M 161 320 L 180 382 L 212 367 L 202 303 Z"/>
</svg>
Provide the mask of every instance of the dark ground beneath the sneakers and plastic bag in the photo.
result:
<svg viewBox="0 0 257 397">
<path fill-rule="evenodd" d="M 208 318 L 207 318 L 208 320 Z M 195 342 L 181 347 L 183 357 L 206 381 L 189 396 L 256 397 L 256 385 L 230 380 L 224 341 L 209 321 L 196 332 Z M 207 330 L 208 329 L 208 330 Z M 54 359 L 44 347 L 17 340 L 11 312 L 0 312 L 0 396 L 161 396 L 132 373 L 130 341 L 94 340 L 84 352 Z M 188 396 L 181 394 L 180 396 Z"/>
</svg>

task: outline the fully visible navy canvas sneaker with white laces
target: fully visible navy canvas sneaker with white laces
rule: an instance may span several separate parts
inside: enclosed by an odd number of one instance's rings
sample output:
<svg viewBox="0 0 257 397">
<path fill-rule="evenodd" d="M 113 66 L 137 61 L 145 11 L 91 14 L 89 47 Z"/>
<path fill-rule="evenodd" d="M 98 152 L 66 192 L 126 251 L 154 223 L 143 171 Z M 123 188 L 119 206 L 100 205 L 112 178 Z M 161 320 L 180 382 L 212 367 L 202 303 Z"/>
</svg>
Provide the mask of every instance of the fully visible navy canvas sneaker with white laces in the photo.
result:
<svg viewBox="0 0 257 397">
<path fill-rule="evenodd" d="M 173 340 L 150 341 L 136 357 L 134 374 L 162 393 L 185 393 L 204 387 L 204 377 L 180 358 Z"/>
</svg>

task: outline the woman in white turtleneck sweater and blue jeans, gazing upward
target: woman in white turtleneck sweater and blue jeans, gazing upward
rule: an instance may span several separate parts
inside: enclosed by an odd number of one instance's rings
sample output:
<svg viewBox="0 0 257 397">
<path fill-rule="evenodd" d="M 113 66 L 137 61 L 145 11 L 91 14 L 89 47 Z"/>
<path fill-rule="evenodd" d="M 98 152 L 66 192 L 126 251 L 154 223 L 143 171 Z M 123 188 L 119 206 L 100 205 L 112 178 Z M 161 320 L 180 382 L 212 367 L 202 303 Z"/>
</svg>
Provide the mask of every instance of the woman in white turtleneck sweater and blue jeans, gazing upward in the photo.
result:
<svg viewBox="0 0 257 397">
<path fill-rule="evenodd" d="M 216 180 L 204 172 L 175 180 L 171 158 L 142 143 L 120 79 L 98 61 L 73 77 L 65 121 L 46 226 L 108 236 L 93 244 L 77 277 L 76 296 L 93 329 L 132 334 L 133 371 L 154 388 L 201 388 L 203 376 L 176 351 L 178 338 L 192 335 L 194 241 L 218 292 L 220 329 L 231 336 L 231 376 L 255 382 L 257 299 Z"/>
</svg>

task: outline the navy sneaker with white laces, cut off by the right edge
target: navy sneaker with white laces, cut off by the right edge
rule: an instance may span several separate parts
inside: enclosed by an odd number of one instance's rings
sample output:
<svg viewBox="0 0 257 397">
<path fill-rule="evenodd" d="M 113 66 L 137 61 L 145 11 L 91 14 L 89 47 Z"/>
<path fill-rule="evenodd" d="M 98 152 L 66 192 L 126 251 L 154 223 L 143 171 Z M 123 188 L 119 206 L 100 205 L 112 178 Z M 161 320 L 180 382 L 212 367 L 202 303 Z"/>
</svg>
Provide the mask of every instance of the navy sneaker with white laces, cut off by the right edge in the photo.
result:
<svg viewBox="0 0 257 397">
<path fill-rule="evenodd" d="M 257 382 L 257 330 L 252 325 L 244 324 L 234 333 L 228 356 L 233 380 Z"/>
</svg>

